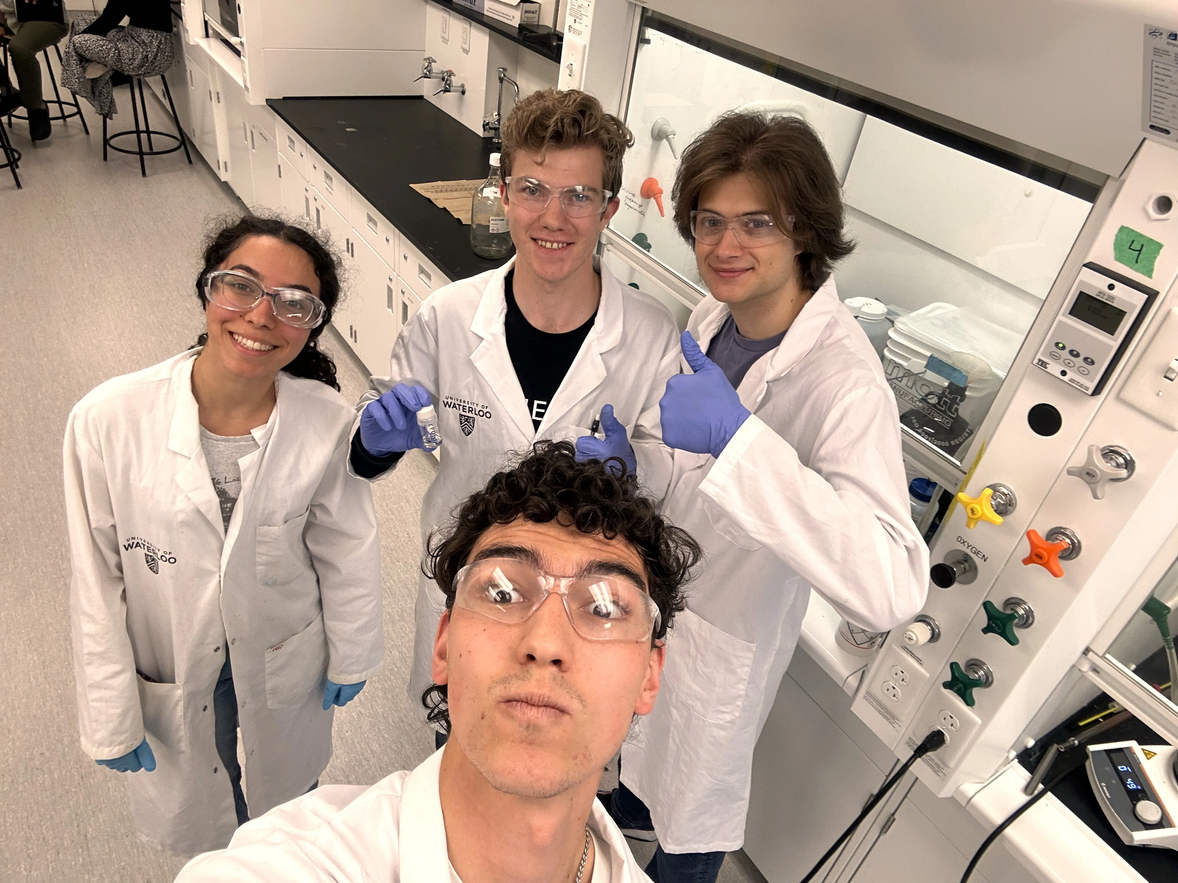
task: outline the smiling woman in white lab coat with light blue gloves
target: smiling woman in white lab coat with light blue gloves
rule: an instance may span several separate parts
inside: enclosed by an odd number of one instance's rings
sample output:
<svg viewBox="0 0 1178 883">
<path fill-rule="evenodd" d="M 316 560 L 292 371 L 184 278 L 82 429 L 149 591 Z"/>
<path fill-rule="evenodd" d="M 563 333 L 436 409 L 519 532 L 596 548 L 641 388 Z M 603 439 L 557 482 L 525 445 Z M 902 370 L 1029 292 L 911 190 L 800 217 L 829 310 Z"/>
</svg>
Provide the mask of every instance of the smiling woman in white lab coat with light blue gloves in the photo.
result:
<svg viewBox="0 0 1178 883">
<path fill-rule="evenodd" d="M 139 836 L 181 855 L 313 788 L 333 706 L 380 668 L 376 512 L 317 346 L 338 266 L 302 227 L 223 224 L 198 345 L 101 384 L 66 426 L 82 750 L 134 774 Z"/>
</svg>

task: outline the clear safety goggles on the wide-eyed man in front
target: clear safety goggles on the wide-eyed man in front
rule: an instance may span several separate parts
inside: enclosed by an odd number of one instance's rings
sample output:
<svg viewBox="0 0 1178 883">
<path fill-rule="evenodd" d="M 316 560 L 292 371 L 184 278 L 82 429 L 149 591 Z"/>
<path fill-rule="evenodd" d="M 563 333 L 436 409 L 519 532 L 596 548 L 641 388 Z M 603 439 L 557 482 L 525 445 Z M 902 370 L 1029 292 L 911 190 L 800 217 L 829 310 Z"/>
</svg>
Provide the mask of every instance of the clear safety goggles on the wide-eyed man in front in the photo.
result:
<svg viewBox="0 0 1178 883">
<path fill-rule="evenodd" d="M 626 577 L 554 577 L 515 558 L 485 558 L 459 570 L 454 605 L 515 625 L 554 593 L 573 629 L 589 640 L 649 642 L 659 628 L 659 605 Z"/>
</svg>

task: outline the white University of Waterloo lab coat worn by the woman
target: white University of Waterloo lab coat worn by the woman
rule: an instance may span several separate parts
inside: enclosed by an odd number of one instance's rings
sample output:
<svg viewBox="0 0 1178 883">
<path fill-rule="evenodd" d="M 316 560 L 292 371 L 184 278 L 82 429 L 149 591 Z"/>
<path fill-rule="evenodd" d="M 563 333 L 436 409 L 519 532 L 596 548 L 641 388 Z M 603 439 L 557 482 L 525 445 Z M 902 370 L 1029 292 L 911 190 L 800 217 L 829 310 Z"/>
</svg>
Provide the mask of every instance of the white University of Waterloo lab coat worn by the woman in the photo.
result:
<svg viewBox="0 0 1178 883">
<path fill-rule="evenodd" d="M 226 536 L 194 358 L 104 383 L 65 437 L 82 750 L 120 757 L 146 733 L 158 768 L 127 776 L 135 825 L 181 855 L 223 847 L 237 826 L 213 735 L 223 646 L 258 815 L 306 791 L 331 757 L 324 678 L 364 680 L 384 652 L 372 492 L 345 465 L 355 411 L 318 380 L 279 374 Z"/>
</svg>

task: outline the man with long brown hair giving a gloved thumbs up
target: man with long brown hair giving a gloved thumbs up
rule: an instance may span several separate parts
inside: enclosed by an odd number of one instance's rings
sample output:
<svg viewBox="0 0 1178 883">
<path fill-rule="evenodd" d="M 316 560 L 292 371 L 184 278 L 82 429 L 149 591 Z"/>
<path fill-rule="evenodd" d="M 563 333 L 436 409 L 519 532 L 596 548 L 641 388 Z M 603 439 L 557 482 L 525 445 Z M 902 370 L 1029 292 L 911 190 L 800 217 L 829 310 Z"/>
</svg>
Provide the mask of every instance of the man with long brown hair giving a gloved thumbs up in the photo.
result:
<svg viewBox="0 0 1178 883">
<path fill-rule="evenodd" d="M 660 400 L 675 457 L 663 511 L 707 564 L 668 642 L 667 690 L 603 797 L 623 829 L 657 836 L 651 879 L 712 883 L 743 842 L 753 749 L 810 587 L 887 631 L 922 606 L 928 550 L 895 400 L 835 290 L 853 245 L 818 134 L 724 114 L 683 152 L 674 200 L 710 297 Z"/>
</svg>

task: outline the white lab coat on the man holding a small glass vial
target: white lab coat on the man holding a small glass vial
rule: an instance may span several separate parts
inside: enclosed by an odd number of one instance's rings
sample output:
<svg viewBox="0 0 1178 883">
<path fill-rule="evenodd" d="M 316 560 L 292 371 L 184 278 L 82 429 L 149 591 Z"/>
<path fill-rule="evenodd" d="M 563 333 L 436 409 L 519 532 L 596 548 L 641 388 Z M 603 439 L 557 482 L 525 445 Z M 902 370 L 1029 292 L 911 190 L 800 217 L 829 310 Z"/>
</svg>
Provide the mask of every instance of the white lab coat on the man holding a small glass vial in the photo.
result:
<svg viewBox="0 0 1178 883">
<path fill-rule="evenodd" d="M 441 467 L 422 503 L 422 542 L 443 526 L 450 511 L 510 458 L 538 439 L 573 440 L 589 433 L 602 405 L 626 425 L 638 477 L 661 496 L 670 479 L 659 399 L 679 371 L 679 332 L 670 311 L 648 294 L 622 285 L 601 268 L 601 304 L 593 328 L 569 367 L 536 432 L 503 331 L 503 279 L 498 270 L 434 292 L 401 331 L 391 373 L 372 378 L 359 409 L 398 383 L 429 390 L 442 432 Z M 357 420 L 358 425 L 358 420 Z M 418 580 L 413 668 L 409 698 L 421 708 L 431 683 L 434 637 L 445 596 L 424 575 Z M 422 710 L 424 715 L 424 710 Z"/>
</svg>

